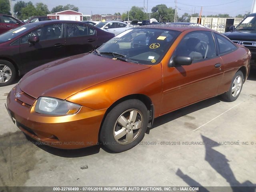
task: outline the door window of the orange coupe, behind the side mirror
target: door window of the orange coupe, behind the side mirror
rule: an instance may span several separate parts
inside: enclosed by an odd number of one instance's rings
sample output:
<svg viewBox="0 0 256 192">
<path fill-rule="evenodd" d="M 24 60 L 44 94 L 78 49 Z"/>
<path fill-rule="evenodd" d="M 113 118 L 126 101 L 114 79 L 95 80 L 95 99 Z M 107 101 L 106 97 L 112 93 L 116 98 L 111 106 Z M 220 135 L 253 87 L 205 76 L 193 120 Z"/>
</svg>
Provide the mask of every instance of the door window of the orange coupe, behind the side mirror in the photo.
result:
<svg viewBox="0 0 256 192">
<path fill-rule="evenodd" d="M 180 41 L 174 55 L 191 57 L 192 61 L 216 56 L 211 32 L 197 31 L 187 34 Z"/>
</svg>

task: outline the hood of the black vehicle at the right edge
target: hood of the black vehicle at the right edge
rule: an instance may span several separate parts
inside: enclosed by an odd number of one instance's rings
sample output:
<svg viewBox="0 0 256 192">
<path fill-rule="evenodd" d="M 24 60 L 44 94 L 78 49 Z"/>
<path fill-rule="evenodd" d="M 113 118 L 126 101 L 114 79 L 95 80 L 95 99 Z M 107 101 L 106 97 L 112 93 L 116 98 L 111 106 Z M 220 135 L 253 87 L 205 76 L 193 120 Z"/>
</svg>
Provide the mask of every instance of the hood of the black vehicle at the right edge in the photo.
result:
<svg viewBox="0 0 256 192">
<path fill-rule="evenodd" d="M 230 38 L 231 40 L 238 40 L 238 41 L 255 41 L 256 38 L 256 31 L 234 31 L 234 32 L 226 32 L 224 33 L 225 36 Z"/>
</svg>

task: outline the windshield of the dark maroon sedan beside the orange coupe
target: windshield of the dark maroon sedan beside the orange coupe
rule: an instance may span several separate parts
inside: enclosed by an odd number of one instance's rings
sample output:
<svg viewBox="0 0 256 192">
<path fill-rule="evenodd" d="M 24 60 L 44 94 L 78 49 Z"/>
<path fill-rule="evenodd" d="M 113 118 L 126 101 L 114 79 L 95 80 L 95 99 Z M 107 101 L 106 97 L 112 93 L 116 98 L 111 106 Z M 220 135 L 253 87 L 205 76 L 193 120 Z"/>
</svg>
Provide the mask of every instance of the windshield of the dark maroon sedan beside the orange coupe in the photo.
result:
<svg viewBox="0 0 256 192">
<path fill-rule="evenodd" d="M 27 32 L 28 30 L 30 30 L 30 28 L 28 28 L 28 24 L 26 24 L 26 26 L 23 25 L 23 26 L 14 28 L 10 31 L 7 31 L 0 35 L 0 43 L 10 41 L 16 38 L 17 36 L 19 36 L 20 34 Z"/>
</svg>

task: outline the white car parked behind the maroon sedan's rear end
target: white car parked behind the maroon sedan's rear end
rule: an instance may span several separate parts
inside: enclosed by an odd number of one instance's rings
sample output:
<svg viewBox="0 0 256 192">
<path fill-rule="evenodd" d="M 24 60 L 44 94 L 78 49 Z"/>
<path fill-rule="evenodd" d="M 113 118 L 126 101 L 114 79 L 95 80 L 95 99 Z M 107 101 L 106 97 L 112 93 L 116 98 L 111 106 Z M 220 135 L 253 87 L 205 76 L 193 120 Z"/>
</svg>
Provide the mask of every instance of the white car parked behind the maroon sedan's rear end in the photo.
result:
<svg viewBox="0 0 256 192">
<path fill-rule="evenodd" d="M 106 21 L 95 25 L 95 27 L 98 27 L 104 31 L 114 33 L 115 36 L 127 30 L 126 26 L 126 23 L 120 21 Z"/>
</svg>

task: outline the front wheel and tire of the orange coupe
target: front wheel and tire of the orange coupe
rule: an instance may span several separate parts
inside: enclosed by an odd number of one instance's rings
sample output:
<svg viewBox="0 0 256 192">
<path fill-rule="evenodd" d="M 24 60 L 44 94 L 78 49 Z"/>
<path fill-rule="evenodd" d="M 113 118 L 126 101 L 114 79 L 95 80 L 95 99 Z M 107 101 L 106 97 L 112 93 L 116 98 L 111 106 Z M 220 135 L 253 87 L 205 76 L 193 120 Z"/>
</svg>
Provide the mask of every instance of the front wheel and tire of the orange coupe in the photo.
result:
<svg viewBox="0 0 256 192">
<path fill-rule="evenodd" d="M 148 110 L 136 99 L 115 106 L 106 116 L 100 132 L 100 142 L 113 152 L 123 152 L 136 146 L 148 127 Z"/>
</svg>

